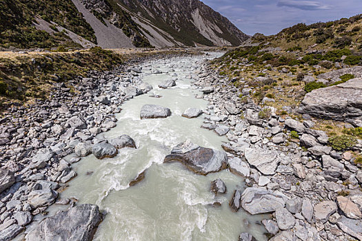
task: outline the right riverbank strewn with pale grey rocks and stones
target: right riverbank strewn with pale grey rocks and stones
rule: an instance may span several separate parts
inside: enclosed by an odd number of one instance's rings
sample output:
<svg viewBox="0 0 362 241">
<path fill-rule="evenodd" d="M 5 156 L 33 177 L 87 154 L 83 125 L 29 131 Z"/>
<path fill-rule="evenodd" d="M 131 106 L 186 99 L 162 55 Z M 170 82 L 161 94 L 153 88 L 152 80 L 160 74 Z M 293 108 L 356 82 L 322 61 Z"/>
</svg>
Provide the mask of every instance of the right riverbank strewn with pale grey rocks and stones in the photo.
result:
<svg viewBox="0 0 362 241">
<path fill-rule="evenodd" d="M 352 152 L 332 149 L 309 115 L 282 118 L 273 107 L 242 101 L 240 89 L 211 67 L 194 85 L 209 101 L 202 127 L 228 137 L 228 168 L 249 186 L 234 191 L 234 211 L 270 213 L 262 223 L 271 240 L 362 240 L 362 171 Z M 357 141 L 353 151 L 361 153 Z M 241 233 L 239 240 L 254 239 Z"/>
</svg>

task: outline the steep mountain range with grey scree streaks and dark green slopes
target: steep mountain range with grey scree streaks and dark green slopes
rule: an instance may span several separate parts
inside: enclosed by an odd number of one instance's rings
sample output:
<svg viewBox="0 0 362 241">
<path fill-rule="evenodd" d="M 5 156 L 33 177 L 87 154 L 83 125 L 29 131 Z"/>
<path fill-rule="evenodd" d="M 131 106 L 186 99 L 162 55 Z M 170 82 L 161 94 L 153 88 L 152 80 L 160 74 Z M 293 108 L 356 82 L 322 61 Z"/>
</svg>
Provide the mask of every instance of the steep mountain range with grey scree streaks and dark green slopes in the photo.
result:
<svg viewBox="0 0 362 241">
<path fill-rule="evenodd" d="M 0 47 L 237 46 L 249 36 L 199 0 L 3 0 Z"/>
</svg>

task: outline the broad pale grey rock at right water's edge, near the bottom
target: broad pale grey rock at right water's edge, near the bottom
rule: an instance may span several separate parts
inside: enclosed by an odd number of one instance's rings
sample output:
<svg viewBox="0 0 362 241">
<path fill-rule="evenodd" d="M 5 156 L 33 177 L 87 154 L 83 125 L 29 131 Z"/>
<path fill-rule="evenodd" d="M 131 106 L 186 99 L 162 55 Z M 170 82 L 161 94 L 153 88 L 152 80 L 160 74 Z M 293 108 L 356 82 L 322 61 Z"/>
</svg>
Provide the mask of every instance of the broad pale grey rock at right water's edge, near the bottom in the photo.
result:
<svg viewBox="0 0 362 241">
<path fill-rule="evenodd" d="M 252 215 L 270 213 L 284 205 L 282 196 L 261 188 L 248 187 L 241 195 L 241 206 Z"/>
</svg>

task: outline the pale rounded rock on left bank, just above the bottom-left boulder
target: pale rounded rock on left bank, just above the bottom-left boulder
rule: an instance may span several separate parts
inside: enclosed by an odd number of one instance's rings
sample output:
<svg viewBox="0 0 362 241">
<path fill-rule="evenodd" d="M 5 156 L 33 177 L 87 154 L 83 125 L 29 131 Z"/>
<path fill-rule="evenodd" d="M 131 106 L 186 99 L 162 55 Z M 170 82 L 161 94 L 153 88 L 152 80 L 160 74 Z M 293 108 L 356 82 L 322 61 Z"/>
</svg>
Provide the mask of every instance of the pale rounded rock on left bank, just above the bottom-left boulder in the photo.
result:
<svg viewBox="0 0 362 241">
<path fill-rule="evenodd" d="M 40 189 L 30 191 L 28 195 L 28 203 L 33 208 L 48 207 L 57 199 L 58 193 L 51 189 Z"/>
</svg>

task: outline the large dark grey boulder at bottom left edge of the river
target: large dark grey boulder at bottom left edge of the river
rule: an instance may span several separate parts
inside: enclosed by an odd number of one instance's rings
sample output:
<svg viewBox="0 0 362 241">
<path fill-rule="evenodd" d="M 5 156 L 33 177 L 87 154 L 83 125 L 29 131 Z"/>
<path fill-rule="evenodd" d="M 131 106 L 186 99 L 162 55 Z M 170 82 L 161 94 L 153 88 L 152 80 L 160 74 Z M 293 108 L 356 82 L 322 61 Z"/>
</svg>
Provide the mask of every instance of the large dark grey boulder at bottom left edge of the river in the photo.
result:
<svg viewBox="0 0 362 241">
<path fill-rule="evenodd" d="M 92 240 L 102 214 L 97 205 L 70 207 L 56 215 L 45 218 L 26 235 L 26 240 Z"/>
</svg>

